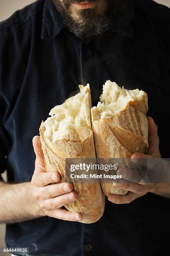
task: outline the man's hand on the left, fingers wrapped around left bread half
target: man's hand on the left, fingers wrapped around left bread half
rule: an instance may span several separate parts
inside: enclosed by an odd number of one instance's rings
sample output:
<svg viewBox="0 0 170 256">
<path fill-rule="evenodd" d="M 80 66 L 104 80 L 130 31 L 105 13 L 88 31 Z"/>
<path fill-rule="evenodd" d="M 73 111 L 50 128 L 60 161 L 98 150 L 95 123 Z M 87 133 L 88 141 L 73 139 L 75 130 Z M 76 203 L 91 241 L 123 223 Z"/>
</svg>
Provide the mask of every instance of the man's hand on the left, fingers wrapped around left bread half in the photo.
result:
<svg viewBox="0 0 170 256">
<path fill-rule="evenodd" d="M 72 184 L 58 183 L 60 175 L 55 172 L 46 172 L 43 152 L 41 149 L 40 136 L 32 140 L 36 160 L 35 171 L 32 176 L 32 195 L 46 215 L 60 220 L 78 221 L 82 215 L 77 212 L 69 212 L 62 208 L 68 203 L 77 199 L 75 192 L 72 192 Z"/>
</svg>

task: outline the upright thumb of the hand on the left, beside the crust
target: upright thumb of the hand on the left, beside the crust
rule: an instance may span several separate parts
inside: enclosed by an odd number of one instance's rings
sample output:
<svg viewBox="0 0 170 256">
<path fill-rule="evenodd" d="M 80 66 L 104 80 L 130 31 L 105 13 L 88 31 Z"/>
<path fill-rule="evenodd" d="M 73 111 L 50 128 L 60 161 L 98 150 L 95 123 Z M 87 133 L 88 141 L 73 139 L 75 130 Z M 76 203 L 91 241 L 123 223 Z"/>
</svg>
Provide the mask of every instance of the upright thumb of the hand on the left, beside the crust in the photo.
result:
<svg viewBox="0 0 170 256">
<path fill-rule="evenodd" d="M 39 170 L 39 172 L 45 172 L 44 155 L 41 148 L 40 136 L 34 136 L 34 138 L 32 139 L 32 145 L 36 155 L 35 172 L 37 170 Z"/>
</svg>

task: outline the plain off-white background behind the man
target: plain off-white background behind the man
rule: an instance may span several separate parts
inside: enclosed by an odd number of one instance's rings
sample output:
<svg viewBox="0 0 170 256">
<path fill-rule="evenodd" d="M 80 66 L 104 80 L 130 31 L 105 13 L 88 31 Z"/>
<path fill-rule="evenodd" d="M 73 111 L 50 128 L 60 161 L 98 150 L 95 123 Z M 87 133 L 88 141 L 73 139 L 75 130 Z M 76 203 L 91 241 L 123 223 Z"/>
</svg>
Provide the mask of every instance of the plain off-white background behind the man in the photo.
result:
<svg viewBox="0 0 170 256">
<path fill-rule="evenodd" d="M 19 10 L 33 2 L 35 2 L 35 0 L 0 0 L 0 21 L 10 17 L 10 15 L 15 12 L 15 10 Z M 170 7 L 170 0 L 156 0 L 156 2 Z M 0 224 L 0 247 L 5 246 L 4 236 L 5 225 Z M 4 255 L 7 256 L 7 254 Z"/>
</svg>

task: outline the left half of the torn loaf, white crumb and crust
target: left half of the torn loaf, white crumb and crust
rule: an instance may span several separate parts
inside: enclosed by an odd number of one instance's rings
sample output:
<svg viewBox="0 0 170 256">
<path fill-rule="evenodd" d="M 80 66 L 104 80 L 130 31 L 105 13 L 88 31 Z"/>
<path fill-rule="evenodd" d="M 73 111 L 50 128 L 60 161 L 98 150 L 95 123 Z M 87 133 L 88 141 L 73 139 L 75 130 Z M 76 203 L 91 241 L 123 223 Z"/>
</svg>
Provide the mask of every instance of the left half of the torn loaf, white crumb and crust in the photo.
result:
<svg viewBox="0 0 170 256">
<path fill-rule="evenodd" d="M 79 85 L 80 93 L 50 111 L 51 117 L 40 125 L 40 139 L 47 172 L 60 174 L 65 180 L 66 158 L 95 158 L 91 128 L 90 86 Z M 94 223 L 104 212 L 105 197 L 100 183 L 74 183 L 77 200 L 65 205 L 70 212 L 82 213 L 82 223 Z"/>
</svg>

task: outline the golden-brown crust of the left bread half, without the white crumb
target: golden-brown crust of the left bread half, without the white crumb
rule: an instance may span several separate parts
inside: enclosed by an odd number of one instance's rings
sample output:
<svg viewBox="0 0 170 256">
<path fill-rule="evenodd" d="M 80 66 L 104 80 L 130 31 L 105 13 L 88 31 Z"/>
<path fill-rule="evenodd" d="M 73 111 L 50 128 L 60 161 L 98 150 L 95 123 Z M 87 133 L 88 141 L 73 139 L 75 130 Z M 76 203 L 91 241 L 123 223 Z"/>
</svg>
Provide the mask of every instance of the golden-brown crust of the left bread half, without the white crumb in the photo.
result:
<svg viewBox="0 0 170 256">
<path fill-rule="evenodd" d="M 87 126 L 79 128 L 78 137 L 71 134 L 72 140 L 58 140 L 52 143 L 43 136 L 40 126 L 40 139 L 47 172 L 56 171 L 60 174 L 60 182 L 65 180 L 65 158 L 95 158 L 93 133 Z M 75 136 L 75 137 L 74 137 Z M 74 138 L 76 139 L 74 141 Z M 99 220 L 104 212 L 105 197 L 100 183 L 74 183 L 73 190 L 77 193 L 77 200 L 65 208 L 71 212 L 83 215 L 82 223 L 93 223 Z"/>
</svg>

